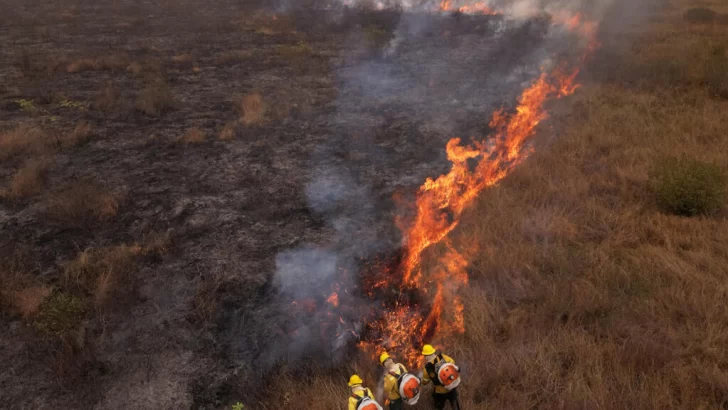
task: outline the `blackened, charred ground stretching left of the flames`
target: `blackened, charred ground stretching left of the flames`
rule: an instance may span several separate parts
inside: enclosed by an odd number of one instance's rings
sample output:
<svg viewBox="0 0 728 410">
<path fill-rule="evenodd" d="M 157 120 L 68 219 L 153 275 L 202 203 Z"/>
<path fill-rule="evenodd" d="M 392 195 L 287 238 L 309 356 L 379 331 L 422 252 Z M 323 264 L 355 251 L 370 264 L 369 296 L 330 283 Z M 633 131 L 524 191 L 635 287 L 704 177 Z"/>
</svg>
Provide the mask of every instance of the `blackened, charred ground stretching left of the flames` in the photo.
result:
<svg viewBox="0 0 728 410">
<path fill-rule="evenodd" d="M 393 194 L 446 170 L 451 136 L 483 134 L 514 103 L 548 24 L 223 0 L 2 10 L 2 129 L 45 138 L 0 156 L 9 408 L 227 405 L 281 340 L 276 255 L 340 240 L 334 219 L 354 254 L 394 246 Z M 33 155 L 41 187 L 22 194 Z M 330 175 L 340 189 L 312 185 Z M 136 245 L 123 279 L 99 256 L 111 286 L 69 280 L 79 255 Z M 23 286 L 86 307 L 43 335 L 46 305 L 13 309 Z"/>
</svg>

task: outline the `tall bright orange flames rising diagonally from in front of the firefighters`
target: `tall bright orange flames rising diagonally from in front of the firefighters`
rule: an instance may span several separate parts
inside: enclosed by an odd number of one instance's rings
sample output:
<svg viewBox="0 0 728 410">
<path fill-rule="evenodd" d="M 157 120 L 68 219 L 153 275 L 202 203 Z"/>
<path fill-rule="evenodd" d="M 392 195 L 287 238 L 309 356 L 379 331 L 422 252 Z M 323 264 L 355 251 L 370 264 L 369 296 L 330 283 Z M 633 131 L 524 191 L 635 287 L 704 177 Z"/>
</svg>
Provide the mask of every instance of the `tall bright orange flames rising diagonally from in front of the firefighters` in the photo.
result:
<svg viewBox="0 0 728 410">
<path fill-rule="evenodd" d="M 440 4 L 442 10 L 452 7 L 452 1 Z M 397 352 L 401 360 L 416 364 L 422 344 L 447 340 L 465 331 L 464 304 L 459 291 L 468 283 L 468 256 L 475 250 L 455 249 L 447 240 L 448 234 L 458 226 L 463 211 L 483 189 L 505 178 L 529 156 L 531 149 L 527 142 L 548 117 L 545 103 L 576 91 L 580 67 L 598 45 L 596 24 L 584 22 L 581 15 L 563 20 L 555 18 L 555 21 L 586 36 L 589 46 L 574 64 L 542 70 L 518 98 L 515 112 L 504 109 L 495 112 L 490 120 L 493 132 L 488 138 L 470 144 L 453 138 L 447 143 L 447 157 L 452 163 L 450 172 L 437 179 L 428 178 L 417 193 L 414 218 L 409 222 L 397 221 L 404 236 L 404 259 L 398 272 L 386 276 L 389 283 L 377 282 L 380 287 L 398 287 L 400 295 L 415 289 L 429 305 L 407 303 L 400 296 L 388 308 L 383 320 L 373 325 L 379 327 L 375 334 L 380 336 L 360 342 L 364 351 L 376 355 L 381 349 L 388 349 Z M 445 245 L 444 255 L 434 267 L 423 267 L 424 251 L 439 243 Z"/>
</svg>

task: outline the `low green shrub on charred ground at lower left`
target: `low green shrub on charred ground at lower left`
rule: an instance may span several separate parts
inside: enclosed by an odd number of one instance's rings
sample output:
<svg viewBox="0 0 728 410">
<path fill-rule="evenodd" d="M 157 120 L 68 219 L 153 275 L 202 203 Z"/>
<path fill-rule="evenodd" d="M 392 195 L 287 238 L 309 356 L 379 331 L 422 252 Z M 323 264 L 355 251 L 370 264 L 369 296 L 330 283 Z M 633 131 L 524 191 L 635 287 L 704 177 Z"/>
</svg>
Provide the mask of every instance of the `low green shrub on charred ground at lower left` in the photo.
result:
<svg viewBox="0 0 728 410">
<path fill-rule="evenodd" d="M 54 293 L 40 305 L 35 328 L 46 335 L 61 336 L 83 318 L 83 302 L 67 293 Z"/>
</svg>

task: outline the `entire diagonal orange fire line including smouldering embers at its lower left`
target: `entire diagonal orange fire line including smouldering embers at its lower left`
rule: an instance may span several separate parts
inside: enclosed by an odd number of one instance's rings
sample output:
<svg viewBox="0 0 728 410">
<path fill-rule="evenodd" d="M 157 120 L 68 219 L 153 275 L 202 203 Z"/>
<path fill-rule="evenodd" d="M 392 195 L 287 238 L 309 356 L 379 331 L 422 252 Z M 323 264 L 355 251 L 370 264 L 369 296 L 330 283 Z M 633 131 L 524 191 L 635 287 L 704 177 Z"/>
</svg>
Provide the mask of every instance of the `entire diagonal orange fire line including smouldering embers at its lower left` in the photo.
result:
<svg viewBox="0 0 728 410">
<path fill-rule="evenodd" d="M 452 0 L 440 3 L 441 10 L 489 10 L 483 2 L 455 7 Z M 335 283 L 331 293 L 300 301 L 299 309 L 312 312 L 317 301 L 325 299 L 328 314 L 338 329 L 337 337 L 350 333 L 359 338 L 362 352 L 377 357 L 386 349 L 410 365 L 421 360 L 419 348 L 424 343 L 447 341 L 465 332 L 461 290 L 469 283 L 467 267 L 477 248 L 467 245 L 462 249 L 463 245 L 456 246 L 448 236 L 484 189 L 500 182 L 529 157 L 533 149 L 528 143 L 539 124 L 548 118 L 546 103 L 578 89 L 581 66 L 598 47 L 597 25 L 582 15 L 557 15 L 554 22 L 583 36 L 583 53 L 554 68 L 542 68 L 518 98 L 515 109 L 492 114 L 491 133 L 485 138 L 448 141 L 445 150 L 450 171 L 428 178 L 417 191 L 412 216 L 395 221 L 403 236 L 401 253 L 389 258 L 393 260 L 372 261 L 373 266 L 361 276 L 362 296 L 379 301 L 379 305 L 363 307 L 369 309 L 368 313 L 351 309 L 347 299 L 339 300 L 350 294 L 350 289 L 344 287 L 340 294 Z M 423 263 L 426 251 L 428 263 Z M 356 331 L 342 330 L 355 322 L 364 325 Z"/>
</svg>

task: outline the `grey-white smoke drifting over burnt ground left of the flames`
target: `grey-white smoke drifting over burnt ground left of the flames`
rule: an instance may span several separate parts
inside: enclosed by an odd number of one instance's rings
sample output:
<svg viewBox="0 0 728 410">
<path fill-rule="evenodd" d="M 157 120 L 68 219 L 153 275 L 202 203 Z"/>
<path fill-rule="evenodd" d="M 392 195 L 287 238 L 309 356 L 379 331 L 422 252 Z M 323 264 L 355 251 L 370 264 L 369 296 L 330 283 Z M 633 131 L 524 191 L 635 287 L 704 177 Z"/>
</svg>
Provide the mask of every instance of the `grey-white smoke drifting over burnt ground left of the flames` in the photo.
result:
<svg viewBox="0 0 728 410">
<path fill-rule="evenodd" d="M 317 3 L 337 9 L 333 14 L 341 19 L 356 16 L 359 29 L 348 38 L 346 49 L 353 51 L 336 67 L 340 92 L 332 135 L 312 155 L 305 187 L 310 209 L 326 221 L 326 240 L 276 257 L 275 283 L 290 320 L 286 342 L 270 347 L 270 357 L 340 362 L 359 337 L 361 318 L 378 306 L 361 293 L 361 261 L 401 245 L 394 191 L 412 190 L 445 172 L 449 138 L 486 135 L 490 114 L 512 104 L 541 69 L 554 66 L 554 56 L 587 46 L 565 28 L 567 17 L 615 19 L 621 14 L 615 9 L 627 2 L 486 3 L 503 14 L 439 13 L 440 1 Z M 453 7 L 466 4 L 454 1 Z M 367 36 L 380 31 L 390 38 L 374 48 Z"/>
</svg>

